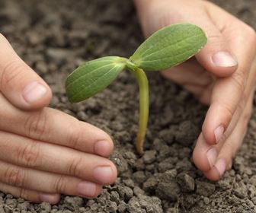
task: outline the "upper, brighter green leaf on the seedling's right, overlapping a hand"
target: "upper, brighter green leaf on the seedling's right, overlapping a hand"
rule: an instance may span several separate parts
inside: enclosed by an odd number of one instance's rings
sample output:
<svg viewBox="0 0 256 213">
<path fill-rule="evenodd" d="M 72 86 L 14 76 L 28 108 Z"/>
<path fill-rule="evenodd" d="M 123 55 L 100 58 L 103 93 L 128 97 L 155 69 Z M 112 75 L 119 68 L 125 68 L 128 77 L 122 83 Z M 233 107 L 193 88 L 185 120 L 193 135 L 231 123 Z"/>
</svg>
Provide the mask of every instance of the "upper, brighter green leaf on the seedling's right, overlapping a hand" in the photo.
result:
<svg viewBox="0 0 256 213">
<path fill-rule="evenodd" d="M 163 70 L 194 56 L 206 41 L 206 34 L 200 27 L 173 24 L 152 34 L 136 49 L 130 61 L 146 71 Z"/>
</svg>

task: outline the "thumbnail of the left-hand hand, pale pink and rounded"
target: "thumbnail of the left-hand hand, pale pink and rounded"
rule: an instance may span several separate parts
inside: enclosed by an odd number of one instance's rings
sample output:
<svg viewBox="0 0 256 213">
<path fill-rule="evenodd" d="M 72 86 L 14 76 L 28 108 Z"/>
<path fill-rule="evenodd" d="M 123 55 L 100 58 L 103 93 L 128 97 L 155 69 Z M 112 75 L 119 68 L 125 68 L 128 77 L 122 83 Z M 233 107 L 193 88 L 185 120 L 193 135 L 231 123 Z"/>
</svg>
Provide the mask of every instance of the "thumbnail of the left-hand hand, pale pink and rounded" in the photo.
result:
<svg viewBox="0 0 256 213">
<path fill-rule="evenodd" d="M 46 94 L 46 91 L 46 87 L 39 84 L 37 81 L 34 81 L 24 88 L 23 97 L 27 103 L 33 103 L 40 100 Z"/>
</svg>

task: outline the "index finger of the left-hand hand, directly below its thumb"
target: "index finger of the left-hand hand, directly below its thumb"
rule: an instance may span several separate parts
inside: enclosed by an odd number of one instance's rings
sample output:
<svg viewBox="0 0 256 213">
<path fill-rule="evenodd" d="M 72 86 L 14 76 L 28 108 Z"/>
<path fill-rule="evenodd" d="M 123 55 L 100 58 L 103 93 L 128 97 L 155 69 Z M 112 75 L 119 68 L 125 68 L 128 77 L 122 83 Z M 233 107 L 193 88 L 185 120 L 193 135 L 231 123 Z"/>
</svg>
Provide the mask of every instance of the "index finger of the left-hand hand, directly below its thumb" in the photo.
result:
<svg viewBox="0 0 256 213">
<path fill-rule="evenodd" d="M 113 151 L 113 141 L 106 132 L 66 113 L 50 108 L 34 112 L 21 111 L 11 106 L 1 94 L 0 102 L 2 131 L 101 156 Z"/>
</svg>

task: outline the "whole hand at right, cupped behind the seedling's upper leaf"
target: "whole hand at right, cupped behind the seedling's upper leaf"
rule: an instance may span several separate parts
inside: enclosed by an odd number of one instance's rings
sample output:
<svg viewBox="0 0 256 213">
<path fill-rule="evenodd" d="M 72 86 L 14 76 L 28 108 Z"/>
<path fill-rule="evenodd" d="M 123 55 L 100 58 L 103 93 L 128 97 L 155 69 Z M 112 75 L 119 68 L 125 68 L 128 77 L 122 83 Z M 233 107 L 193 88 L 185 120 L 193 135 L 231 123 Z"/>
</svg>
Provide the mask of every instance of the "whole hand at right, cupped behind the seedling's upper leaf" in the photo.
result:
<svg viewBox="0 0 256 213">
<path fill-rule="evenodd" d="M 142 30 L 149 36 L 165 25 L 190 22 L 208 35 L 188 62 L 162 72 L 210 105 L 194 148 L 194 163 L 210 180 L 232 165 L 251 116 L 256 80 L 255 31 L 207 1 L 136 0 Z"/>
</svg>

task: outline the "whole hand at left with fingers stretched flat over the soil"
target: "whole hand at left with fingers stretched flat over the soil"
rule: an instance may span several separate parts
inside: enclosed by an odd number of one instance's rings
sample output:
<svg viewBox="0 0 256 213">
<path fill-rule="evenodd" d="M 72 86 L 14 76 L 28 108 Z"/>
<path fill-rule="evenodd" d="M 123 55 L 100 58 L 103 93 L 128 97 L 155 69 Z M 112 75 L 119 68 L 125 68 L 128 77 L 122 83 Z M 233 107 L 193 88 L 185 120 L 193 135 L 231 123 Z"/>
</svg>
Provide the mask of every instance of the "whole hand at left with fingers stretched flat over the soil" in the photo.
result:
<svg viewBox="0 0 256 213">
<path fill-rule="evenodd" d="M 0 191 L 56 203 L 60 193 L 93 198 L 117 177 L 101 129 L 46 106 L 47 84 L 0 34 Z"/>
</svg>

